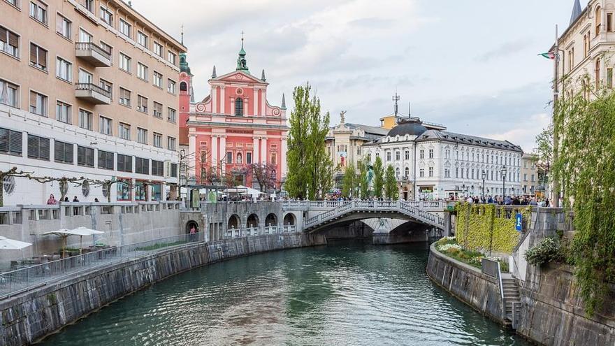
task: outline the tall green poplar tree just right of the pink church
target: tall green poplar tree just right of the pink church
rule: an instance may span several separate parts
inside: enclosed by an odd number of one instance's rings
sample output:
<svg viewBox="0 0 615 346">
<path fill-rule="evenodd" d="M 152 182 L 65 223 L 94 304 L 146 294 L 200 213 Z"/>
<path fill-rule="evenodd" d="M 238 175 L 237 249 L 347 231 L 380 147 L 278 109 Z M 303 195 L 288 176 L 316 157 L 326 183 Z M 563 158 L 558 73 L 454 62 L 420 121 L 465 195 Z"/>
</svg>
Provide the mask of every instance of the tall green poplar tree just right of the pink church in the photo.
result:
<svg viewBox="0 0 615 346">
<path fill-rule="evenodd" d="M 295 87 L 294 110 L 289 119 L 287 180 L 284 184 L 291 197 L 316 199 L 331 186 L 331 158 L 326 151 L 329 113 L 321 115 L 320 100 L 310 96 L 309 83 Z"/>
</svg>

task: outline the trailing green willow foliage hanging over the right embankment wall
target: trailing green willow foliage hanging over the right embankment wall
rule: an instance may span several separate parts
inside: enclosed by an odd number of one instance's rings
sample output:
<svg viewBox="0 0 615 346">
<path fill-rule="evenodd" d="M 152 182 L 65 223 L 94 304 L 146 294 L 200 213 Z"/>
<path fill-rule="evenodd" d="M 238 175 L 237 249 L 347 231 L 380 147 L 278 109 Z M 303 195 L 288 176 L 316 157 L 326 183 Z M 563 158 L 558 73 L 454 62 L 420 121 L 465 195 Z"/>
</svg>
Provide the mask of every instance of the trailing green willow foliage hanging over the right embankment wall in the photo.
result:
<svg viewBox="0 0 615 346">
<path fill-rule="evenodd" d="M 574 210 L 569 261 L 588 316 L 615 284 L 615 94 L 590 85 L 587 77 L 576 92 L 565 85 L 556 103 L 560 141 L 553 168 L 564 203 Z"/>
</svg>

